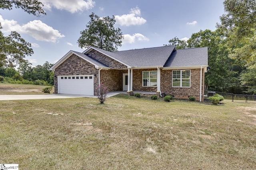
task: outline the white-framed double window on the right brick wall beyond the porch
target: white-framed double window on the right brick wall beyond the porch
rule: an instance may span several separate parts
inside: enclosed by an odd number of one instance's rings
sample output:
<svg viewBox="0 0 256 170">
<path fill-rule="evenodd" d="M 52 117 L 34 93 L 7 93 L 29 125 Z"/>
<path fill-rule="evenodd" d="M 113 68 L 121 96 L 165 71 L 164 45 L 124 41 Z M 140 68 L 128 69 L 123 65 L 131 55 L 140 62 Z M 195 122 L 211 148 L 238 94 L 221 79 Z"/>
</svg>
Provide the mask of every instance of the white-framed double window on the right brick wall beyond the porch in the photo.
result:
<svg viewBox="0 0 256 170">
<path fill-rule="evenodd" d="M 172 87 L 190 87 L 190 70 L 172 70 Z"/>
</svg>

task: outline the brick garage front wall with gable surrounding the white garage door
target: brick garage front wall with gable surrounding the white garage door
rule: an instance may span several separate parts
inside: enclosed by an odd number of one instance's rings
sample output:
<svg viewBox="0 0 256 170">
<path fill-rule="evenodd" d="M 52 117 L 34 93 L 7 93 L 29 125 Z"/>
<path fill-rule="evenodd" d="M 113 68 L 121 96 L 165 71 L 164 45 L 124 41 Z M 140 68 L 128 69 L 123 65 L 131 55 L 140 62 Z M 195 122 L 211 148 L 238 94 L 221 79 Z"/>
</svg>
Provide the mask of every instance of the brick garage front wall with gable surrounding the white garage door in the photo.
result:
<svg viewBox="0 0 256 170">
<path fill-rule="evenodd" d="M 66 61 L 60 64 L 54 71 L 54 93 L 58 94 L 58 76 L 67 75 L 94 75 L 94 95 L 98 86 L 98 69 L 91 63 L 76 55 L 71 55 Z M 96 74 L 96 76 L 95 76 Z"/>
</svg>

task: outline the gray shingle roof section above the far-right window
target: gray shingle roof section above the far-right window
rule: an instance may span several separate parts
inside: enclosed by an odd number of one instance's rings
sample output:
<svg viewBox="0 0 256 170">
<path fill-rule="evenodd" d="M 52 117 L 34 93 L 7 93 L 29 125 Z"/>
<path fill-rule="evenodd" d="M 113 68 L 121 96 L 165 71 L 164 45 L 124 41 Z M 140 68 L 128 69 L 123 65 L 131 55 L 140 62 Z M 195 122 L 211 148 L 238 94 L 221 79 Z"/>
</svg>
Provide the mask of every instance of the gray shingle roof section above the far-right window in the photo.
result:
<svg viewBox="0 0 256 170">
<path fill-rule="evenodd" d="M 173 51 L 164 67 L 208 66 L 207 47 Z"/>
</svg>

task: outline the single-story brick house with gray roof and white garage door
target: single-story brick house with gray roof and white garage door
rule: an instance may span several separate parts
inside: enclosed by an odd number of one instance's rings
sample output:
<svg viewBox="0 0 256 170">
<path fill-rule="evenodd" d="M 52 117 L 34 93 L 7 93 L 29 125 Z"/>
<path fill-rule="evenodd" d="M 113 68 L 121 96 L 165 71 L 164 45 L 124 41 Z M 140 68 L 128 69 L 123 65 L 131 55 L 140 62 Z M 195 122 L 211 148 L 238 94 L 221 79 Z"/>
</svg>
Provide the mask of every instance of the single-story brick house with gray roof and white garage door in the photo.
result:
<svg viewBox="0 0 256 170">
<path fill-rule="evenodd" d="M 110 92 L 155 92 L 203 101 L 207 47 L 177 49 L 174 45 L 110 52 L 89 47 L 69 51 L 50 70 L 54 93 L 96 95 L 100 83 Z"/>
</svg>

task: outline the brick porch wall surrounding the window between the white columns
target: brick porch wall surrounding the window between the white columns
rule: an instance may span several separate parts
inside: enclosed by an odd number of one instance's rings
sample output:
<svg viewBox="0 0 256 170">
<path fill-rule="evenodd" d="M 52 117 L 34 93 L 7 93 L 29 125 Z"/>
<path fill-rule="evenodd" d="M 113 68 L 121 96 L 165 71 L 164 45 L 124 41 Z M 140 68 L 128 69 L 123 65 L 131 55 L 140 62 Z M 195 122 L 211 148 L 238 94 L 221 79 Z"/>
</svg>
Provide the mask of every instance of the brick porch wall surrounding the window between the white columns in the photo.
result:
<svg viewBox="0 0 256 170">
<path fill-rule="evenodd" d="M 156 92 L 157 87 L 142 87 L 142 71 L 157 71 L 157 69 L 132 70 L 132 90 L 143 92 Z"/>
</svg>

